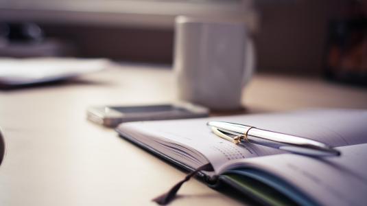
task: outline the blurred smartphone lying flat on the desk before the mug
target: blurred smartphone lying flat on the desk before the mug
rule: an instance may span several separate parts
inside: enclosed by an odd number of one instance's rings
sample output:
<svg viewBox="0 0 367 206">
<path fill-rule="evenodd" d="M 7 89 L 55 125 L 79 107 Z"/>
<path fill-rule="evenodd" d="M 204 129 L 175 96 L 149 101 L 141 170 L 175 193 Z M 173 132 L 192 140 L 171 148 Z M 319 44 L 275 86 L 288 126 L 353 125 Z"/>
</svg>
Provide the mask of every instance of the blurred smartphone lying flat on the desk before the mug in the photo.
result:
<svg viewBox="0 0 367 206">
<path fill-rule="evenodd" d="M 208 115 L 208 108 L 182 102 L 141 106 L 95 106 L 87 110 L 89 120 L 108 127 L 116 127 L 122 122 L 187 119 Z"/>
</svg>

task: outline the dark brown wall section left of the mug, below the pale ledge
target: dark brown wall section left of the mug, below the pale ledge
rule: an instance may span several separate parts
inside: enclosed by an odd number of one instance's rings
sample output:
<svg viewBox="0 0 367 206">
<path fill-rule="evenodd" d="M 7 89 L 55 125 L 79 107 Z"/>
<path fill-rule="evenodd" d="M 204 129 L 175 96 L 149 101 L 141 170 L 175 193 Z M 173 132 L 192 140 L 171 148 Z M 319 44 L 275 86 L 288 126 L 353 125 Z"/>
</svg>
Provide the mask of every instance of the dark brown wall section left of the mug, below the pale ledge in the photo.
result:
<svg viewBox="0 0 367 206">
<path fill-rule="evenodd" d="M 171 63 L 174 30 L 96 25 L 41 25 L 47 36 L 75 43 L 83 57 Z"/>
</svg>

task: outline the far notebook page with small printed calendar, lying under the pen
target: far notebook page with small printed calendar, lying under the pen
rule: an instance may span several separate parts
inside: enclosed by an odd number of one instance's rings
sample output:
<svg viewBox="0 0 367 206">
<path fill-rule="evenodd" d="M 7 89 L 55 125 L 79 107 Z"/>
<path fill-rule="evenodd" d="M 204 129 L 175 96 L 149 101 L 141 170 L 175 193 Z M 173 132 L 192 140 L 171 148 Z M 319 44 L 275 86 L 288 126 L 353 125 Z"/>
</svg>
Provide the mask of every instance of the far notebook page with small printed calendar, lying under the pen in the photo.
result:
<svg viewBox="0 0 367 206">
<path fill-rule="evenodd" d="M 367 133 L 367 111 L 362 110 L 312 110 L 292 113 L 261 115 L 236 115 L 202 119 L 180 119 L 121 124 L 118 130 L 133 130 L 150 137 L 174 141 L 200 152 L 217 171 L 233 159 L 259 157 L 284 153 L 281 150 L 256 144 L 235 145 L 217 137 L 206 126 L 208 121 L 225 121 L 247 124 L 280 133 L 299 135 L 323 141 L 331 146 L 367 143 L 362 135 Z M 146 143 L 149 145 L 149 143 Z"/>
</svg>

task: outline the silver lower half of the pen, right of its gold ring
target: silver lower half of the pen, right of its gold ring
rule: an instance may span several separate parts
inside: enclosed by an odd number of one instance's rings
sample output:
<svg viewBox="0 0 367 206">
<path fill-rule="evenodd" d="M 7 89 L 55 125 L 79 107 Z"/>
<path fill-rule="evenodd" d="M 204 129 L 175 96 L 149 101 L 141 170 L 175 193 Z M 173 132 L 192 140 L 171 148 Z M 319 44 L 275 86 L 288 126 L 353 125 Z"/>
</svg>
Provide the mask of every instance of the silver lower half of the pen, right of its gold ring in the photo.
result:
<svg viewBox="0 0 367 206">
<path fill-rule="evenodd" d="M 310 156 L 338 156 L 340 152 L 319 141 L 258 128 L 248 130 L 248 141 L 287 152 Z"/>
</svg>

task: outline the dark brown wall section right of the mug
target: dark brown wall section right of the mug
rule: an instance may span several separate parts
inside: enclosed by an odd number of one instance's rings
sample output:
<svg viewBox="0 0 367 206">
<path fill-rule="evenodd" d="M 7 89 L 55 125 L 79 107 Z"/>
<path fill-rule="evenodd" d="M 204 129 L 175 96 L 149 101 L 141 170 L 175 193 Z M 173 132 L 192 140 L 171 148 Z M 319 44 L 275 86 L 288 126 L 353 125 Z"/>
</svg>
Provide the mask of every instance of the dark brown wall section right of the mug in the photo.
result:
<svg viewBox="0 0 367 206">
<path fill-rule="evenodd" d="M 331 19 L 346 13 L 348 1 L 257 1 L 260 30 L 254 35 L 261 71 L 320 73 Z"/>
</svg>

